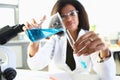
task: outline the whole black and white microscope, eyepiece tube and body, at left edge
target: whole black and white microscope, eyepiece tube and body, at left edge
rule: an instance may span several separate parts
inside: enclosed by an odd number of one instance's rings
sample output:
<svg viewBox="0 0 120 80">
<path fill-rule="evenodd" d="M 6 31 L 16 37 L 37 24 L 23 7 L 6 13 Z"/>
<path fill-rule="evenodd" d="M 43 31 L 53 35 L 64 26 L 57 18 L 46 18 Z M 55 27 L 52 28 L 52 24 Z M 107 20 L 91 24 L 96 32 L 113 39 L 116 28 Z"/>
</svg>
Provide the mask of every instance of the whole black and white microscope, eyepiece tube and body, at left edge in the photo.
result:
<svg viewBox="0 0 120 80">
<path fill-rule="evenodd" d="M 12 27 L 7 25 L 0 29 L 0 80 L 13 80 L 17 75 L 15 53 L 3 45 L 18 33 L 23 32 L 23 26 L 24 24 Z"/>
</svg>

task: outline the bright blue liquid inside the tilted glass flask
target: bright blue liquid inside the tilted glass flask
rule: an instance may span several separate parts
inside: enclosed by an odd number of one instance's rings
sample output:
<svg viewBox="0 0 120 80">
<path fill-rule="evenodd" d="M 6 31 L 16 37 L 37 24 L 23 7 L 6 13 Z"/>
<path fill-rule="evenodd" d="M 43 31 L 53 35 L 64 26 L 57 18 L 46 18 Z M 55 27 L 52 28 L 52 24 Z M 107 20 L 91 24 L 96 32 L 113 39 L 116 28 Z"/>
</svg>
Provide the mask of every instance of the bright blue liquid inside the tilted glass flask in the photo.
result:
<svg viewBox="0 0 120 80">
<path fill-rule="evenodd" d="M 49 28 L 49 29 L 28 29 L 26 31 L 27 36 L 32 42 L 36 42 L 38 40 L 50 37 L 58 32 L 63 31 L 62 28 Z"/>
</svg>

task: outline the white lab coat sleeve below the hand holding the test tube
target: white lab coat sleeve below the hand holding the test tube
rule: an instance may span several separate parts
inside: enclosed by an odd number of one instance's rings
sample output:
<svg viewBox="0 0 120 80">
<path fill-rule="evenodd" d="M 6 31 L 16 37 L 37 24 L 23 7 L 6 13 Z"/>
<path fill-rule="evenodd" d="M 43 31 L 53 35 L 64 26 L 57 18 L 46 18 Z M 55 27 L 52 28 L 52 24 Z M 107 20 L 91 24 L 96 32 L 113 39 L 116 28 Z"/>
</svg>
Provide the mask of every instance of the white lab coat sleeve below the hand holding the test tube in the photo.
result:
<svg viewBox="0 0 120 80">
<path fill-rule="evenodd" d="M 101 80 L 114 80 L 116 75 L 116 65 L 113 58 L 113 53 L 111 57 L 106 59 L 104 62 L 99 63 L 99 52 L 93 53 L 91 55 L 93 69 L 100 76 Z"/>
</svg>

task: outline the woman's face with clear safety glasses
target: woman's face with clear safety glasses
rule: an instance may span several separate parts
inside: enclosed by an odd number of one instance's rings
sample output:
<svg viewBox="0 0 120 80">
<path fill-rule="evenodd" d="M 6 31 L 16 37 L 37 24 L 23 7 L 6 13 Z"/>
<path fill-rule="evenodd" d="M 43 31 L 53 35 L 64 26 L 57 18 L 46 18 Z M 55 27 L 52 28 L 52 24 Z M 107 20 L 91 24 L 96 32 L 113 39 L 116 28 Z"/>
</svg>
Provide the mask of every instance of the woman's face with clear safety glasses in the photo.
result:
<svg viewBox="0 0 120 80">
<path fill-rule="evenodd" d="M 65 7 L 63 7 L 61 10 L 61 17 L 65 27 L 69 31 L 76 31 L 78 29 L 78 11 L 74 6 L 67 4 Z"/>
</svg>

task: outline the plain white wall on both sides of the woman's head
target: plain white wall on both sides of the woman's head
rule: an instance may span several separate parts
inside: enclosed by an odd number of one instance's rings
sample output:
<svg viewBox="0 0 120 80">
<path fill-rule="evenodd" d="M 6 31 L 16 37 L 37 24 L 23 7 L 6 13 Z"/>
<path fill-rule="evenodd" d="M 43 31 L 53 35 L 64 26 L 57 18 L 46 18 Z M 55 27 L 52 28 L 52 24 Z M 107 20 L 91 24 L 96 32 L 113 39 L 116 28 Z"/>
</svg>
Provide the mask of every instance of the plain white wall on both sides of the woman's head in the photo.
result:
<svg viewBox="0 0 120 80">
<path fill-rule="evenodd" d="M 119 0 L 79 0 L 88 12 L 90 25 L 96 25 L 98 33 L 111 33 L 120 31 L 120 5 Z M 49 15 L 56 0 L 20 0 L 20 23 L 30 21 L 32 18 L 40 20 Z"/>
</svg>

